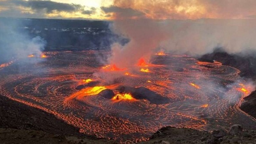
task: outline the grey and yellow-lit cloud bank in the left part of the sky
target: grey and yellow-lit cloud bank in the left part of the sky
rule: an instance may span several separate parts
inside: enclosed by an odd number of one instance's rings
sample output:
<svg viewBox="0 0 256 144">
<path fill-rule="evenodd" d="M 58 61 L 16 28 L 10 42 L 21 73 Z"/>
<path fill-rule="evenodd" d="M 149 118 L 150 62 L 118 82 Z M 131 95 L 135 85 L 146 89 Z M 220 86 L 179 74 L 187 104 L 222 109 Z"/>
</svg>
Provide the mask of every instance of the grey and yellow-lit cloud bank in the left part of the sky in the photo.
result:
<svg viewBox="0 0 256 144">
<path fill-rule="evenodd" d="M 97 8 L 50 0 L 0 0 L 0 16 L 25 18 L 90 18 Z"/>
</svg>

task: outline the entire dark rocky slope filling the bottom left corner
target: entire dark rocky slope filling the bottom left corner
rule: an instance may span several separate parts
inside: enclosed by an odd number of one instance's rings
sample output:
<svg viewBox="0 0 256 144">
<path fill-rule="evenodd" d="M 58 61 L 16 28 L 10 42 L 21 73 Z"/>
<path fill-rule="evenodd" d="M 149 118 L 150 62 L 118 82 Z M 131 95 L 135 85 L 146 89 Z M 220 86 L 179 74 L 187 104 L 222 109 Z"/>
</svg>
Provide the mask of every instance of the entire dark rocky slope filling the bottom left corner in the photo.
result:
<svg viewBox="0 0 256 144">
<path fill-rule="evenodd" d="M 0 95 L 0 144 L 113 143 L 85 135 L 43 110 Z"/>
</svg>

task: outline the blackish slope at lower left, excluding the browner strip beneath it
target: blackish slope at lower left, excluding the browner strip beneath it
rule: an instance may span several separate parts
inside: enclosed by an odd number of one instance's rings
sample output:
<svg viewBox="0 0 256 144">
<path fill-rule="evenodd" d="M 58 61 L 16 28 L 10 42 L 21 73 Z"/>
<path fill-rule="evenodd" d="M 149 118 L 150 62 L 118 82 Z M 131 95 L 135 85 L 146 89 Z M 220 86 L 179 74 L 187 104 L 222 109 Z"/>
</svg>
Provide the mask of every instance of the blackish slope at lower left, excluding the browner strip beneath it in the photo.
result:
<svg viewBox="0 0 256 144">
<path fill-rule="evenodd" d="M 40 130 L 51 134 L 85 136 L 79 129 L 41 109 L 0 95 L 0 128 Z"/>
</svg>

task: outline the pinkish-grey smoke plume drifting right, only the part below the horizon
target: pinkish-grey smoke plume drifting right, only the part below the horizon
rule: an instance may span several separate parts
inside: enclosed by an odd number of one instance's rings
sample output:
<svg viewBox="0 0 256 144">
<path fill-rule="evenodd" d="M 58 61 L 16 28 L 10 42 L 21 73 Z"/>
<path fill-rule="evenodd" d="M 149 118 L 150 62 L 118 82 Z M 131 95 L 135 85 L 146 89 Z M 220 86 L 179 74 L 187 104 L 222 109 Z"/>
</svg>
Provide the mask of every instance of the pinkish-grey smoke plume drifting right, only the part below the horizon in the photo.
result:
<svg viewBox="0 0 256 144">
<path fill-rule="evenodd" d="M 168 52 L 193 56 L 223 47 L 228 53 L 256 49 L 253 38 L 256 20 L 116 20 L 112 30 L 130 39 L 125 45 L 114 44 L 110 63 L 129 67 L 141 57 L 162 48 Z"/>
</svg>

